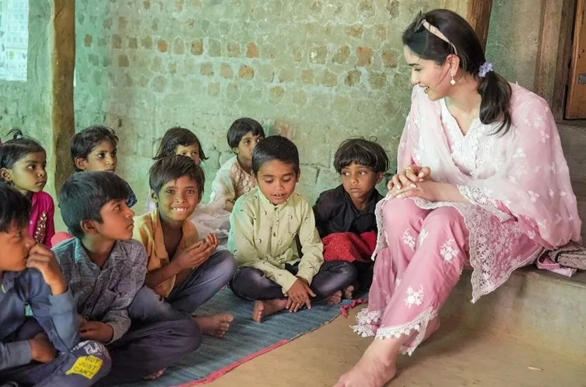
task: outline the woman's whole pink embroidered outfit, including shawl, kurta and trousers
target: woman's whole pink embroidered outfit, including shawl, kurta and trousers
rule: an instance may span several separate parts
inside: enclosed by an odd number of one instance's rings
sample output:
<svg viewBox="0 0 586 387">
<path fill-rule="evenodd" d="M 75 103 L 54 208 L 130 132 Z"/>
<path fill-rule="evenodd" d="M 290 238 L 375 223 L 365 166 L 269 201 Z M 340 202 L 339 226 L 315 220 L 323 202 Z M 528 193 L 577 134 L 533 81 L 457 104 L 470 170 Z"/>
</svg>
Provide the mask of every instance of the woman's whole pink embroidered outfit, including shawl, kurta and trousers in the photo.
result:
<svg viewBox="0 0 586 387">
<path fill-rule="evenodd" d="M 434 181 L 458 186 L 469 203 L 378 203 L 374 280 L 356 332 L 406 335 L 401 350 L 411 354 L 432 333 L 465 266 L 474 269 L 474 302 L 544 248 L 580 241 L 576 197 L 552 114 L 543 99 L 511 86 L 513 125 L 505 135 L 491 135 L 498 124 L 479 119 L 463 135 L 445 101 L 430 101 L 414 88 L 398 170 L 429 166 Z"/>
</svg>

